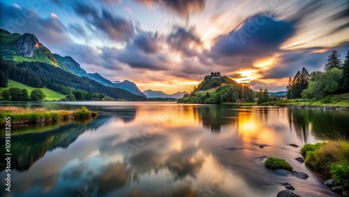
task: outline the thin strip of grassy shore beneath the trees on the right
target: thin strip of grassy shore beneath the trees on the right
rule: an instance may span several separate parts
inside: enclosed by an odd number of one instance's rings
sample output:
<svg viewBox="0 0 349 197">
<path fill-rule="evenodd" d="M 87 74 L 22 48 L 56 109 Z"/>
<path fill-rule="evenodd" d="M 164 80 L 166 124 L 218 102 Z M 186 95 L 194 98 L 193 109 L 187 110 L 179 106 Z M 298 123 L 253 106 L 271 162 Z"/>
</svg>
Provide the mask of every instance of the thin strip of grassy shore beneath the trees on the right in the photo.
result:
<svg viewBox="0 0 349 197">
<path fill-rule="evenodd" d="M 262 103 L 261 105 L 273 105 L 273 106 L 311 106 L 311 107 L 323 107 L 323 106 L 339 106 L 343 108 L 349 107 L 349 93 L 346 94 L 336 94 L 326 96 L 323 99 L 285 99 L 277 100 L 267 103 Z"/>
</svg>

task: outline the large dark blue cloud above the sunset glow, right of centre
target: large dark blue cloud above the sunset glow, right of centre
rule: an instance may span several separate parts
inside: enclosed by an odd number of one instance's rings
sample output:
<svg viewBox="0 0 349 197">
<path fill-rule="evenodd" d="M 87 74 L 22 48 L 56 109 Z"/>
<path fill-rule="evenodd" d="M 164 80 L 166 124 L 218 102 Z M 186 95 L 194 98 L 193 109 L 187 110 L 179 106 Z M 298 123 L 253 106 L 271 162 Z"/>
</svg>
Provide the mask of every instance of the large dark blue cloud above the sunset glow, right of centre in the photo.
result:
<svg viewBox="0 0 349 197">
<path fill-rule="evenodd" d="M 242 27 L 228 35 L 218 36 L 211 50 L 214 57 L 266 56 L 279 50 L 281 44 L 295 33 L 292 23 L 276 21 L 265 15 L 254 15 Z"/>
</svg>

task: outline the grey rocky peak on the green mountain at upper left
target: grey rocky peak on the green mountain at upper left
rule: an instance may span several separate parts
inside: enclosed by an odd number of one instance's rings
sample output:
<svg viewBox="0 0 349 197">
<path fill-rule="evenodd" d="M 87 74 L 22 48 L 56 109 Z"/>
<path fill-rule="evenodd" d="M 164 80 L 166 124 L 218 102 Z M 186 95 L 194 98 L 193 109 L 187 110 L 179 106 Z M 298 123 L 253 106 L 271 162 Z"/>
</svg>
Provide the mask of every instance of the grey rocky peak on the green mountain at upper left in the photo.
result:
<svg viewBox="0 0 349 197">
<path fill-rule="evenodd" d="M 16 52 L 23 57 L 33 57 L 34 51 L 38 50 L 42 45 L 34 34 L 23 34 L 17 41 Z"/>
</svg>

